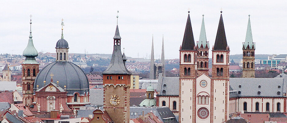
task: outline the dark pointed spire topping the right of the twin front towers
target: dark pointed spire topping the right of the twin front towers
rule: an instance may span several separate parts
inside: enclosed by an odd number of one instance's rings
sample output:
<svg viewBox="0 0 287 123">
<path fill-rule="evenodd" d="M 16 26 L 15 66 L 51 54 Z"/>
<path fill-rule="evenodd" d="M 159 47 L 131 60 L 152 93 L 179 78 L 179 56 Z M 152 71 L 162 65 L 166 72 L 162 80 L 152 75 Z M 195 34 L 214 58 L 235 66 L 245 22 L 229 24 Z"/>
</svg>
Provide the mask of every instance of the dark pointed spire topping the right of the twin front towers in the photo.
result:
<svg viewBox="0 0 287 123">
<path fill-rule="evenodd" d="M 220 11 L 222 13 L 222 11 Z M 227 50 L 227 40 L 225 36 L 222 14 L 220 14 L 219 25 L 214 43 L 214 50 Z"/>
</svg>

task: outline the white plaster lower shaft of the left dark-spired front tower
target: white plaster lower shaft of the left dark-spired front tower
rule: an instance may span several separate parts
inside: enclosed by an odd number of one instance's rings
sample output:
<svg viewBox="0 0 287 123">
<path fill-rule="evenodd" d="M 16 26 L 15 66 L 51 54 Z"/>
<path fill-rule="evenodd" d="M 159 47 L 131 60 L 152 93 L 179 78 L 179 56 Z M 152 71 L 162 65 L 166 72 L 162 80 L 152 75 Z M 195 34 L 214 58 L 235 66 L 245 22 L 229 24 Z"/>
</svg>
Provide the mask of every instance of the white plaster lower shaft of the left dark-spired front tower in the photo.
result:
<svg viewBox="0 0 287 123">
<path fill-rule="evenodd" d="M 180 83 L 181 92 L 179 93 L 181 93 L 181 123 L 192 123 L 192 83 L 192 79 L 182 79 Z"/>
</svg>

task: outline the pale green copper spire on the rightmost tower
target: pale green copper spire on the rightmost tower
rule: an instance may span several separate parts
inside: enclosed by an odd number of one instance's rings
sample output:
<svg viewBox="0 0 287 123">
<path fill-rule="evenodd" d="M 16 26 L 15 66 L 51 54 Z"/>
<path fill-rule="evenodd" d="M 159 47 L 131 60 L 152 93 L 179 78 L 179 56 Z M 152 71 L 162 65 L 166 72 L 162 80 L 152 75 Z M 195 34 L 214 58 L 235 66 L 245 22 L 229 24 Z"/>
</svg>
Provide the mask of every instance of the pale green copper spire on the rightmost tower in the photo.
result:
<svg viewBox="0 0 287 123">
<path fill-rule="evenodd" d="M 252 39 L 250 15 L 248 15 L 248 16 L 249 17 L 248 17 L 247 31 L 246 31 L 245 42 L 243 44 L 243 49 L 247 49 L 248 45 L 249 45 L 249 49 L 255 49 L 255 44 L 253 43 L 253 39 Z"/>
</svg>

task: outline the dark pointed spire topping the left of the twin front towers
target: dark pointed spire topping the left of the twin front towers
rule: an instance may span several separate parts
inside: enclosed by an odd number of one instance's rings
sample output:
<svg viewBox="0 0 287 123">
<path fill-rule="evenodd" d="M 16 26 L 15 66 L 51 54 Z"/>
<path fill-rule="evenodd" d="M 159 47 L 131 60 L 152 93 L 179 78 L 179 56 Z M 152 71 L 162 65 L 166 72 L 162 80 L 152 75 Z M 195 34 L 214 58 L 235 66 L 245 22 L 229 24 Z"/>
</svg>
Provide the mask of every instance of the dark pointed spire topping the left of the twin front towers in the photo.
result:
<svg viewBox="0 0 287 123">
<path fill-rule="evenodd" d="M 193 38 L 192 27 L 191 27 L 189 11 L 188 11 L 188 17 L 187 17 L 187 22 L 185 26 L 185 32 L 184 32 L 184 37 L 183 37 L 183 41 L 181 45 L 181 50 L 195 50 L 194 46 L 195 46 L 194 38 Z"/>
</svg>

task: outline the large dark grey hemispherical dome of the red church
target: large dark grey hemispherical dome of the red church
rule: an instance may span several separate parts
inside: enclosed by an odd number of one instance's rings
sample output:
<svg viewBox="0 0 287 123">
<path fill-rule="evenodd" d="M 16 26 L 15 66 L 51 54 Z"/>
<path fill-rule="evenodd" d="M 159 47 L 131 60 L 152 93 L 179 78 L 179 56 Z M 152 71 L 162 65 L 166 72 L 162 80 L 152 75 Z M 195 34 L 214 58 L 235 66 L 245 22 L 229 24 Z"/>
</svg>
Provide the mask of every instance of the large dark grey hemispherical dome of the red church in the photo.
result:
<svg viewBox="0 0 287 123">
<path fill-rule="evenodd" d="M 37 85 L 39 88 L 45 86 L 44 81 L 46 85 L 50 83 L 51 74 L 54 75 L 54 83 L 59 81 L 59 86 L 63 89 L 66 86 L 68 94 L 74 94 L 74 92 L 85 94 L 89 91 L 89 82 L 84 71 L 74 63 L 59 61 L 48 64 L 39 72 L 35 79 L 34 89 Z"/>
</svg>

